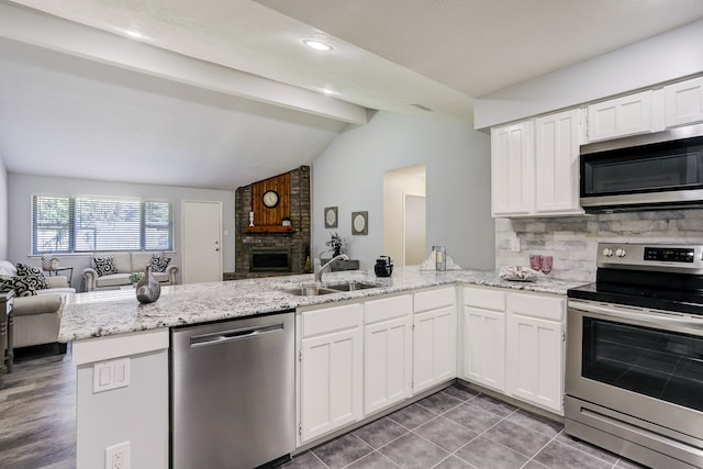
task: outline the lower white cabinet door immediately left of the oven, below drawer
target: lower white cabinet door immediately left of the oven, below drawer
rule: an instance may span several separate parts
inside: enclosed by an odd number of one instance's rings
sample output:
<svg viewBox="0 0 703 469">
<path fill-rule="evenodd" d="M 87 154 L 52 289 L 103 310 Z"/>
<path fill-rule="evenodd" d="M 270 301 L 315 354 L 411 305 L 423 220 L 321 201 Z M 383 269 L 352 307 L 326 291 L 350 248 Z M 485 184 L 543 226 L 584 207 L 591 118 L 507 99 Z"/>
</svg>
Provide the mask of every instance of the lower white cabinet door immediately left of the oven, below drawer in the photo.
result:
<svg viewBox="0 0 703 469">
<path fill-rule="evenodd" d="M 509 313 L 507 391 L 563 415 L 561 322 Z"/>
</svg>

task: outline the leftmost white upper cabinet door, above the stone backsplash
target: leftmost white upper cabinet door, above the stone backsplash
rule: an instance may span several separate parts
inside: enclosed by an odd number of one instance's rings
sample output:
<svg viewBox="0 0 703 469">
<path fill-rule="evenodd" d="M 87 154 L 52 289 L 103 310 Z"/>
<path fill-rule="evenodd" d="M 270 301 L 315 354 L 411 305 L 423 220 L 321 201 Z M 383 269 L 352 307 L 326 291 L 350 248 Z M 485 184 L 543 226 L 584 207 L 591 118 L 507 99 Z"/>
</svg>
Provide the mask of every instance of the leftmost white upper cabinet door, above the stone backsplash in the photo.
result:
<svg viewBox="0 0 703 469">
<path fill-rule="evenodd" d="M 493 216 L 526 215 L 533 212 L 534 153 L 532 121 L 491 129 Z"/>
</svg>

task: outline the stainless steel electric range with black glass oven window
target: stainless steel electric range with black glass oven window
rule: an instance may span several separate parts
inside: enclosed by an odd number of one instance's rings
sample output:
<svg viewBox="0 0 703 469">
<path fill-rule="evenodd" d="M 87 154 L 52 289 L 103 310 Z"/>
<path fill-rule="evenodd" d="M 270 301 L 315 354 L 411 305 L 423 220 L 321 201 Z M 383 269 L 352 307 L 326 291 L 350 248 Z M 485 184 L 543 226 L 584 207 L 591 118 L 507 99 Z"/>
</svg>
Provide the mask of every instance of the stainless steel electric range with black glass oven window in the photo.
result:
<svg viewBox="0 0 703 469">
<path fill-rule="evenodd" d="M 703 467 L 703 247 L 602 244 L 598 266 L 568 293 L 566 433 Z"/>
</svg>

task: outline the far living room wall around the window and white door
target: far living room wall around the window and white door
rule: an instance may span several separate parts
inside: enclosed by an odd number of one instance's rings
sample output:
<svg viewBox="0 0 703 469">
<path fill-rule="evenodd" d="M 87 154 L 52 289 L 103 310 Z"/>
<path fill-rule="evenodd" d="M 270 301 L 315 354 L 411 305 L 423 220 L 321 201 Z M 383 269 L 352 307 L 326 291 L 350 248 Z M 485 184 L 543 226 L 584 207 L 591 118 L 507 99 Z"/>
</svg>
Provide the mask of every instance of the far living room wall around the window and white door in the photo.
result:
<svg viewBox="0 0 703 469">
<path fill-rule="evenodd" d="M 138 168 L 134 169 L 138 171 Z M 32 194 L 88 194 L 156 198 L 174 203 L 174 250 L 175 263 L 181 266 L 181 210 L 183 200 L 222 202 L 223 232 L 222 267 L 234 270 L 234 190 L 208 190 L 171 186 L 148 186 L 121 182 L 104 182 L 86 179 L 52 178 L 10 174 L 8 176 L 9 219 L 12 221 L 8 235 L 7 258 L 12 263 L 27 263 L 40 266 L 38 259 L 31 259 L 32 253 Z M 62 266 L 74 267 L 71 286 L 82 290 L 81 271 L 89 265 L 89 257 L 82 255 L 58 256 Z M 180 272 L 178 277 L 180 282 Z"/>
</svg>

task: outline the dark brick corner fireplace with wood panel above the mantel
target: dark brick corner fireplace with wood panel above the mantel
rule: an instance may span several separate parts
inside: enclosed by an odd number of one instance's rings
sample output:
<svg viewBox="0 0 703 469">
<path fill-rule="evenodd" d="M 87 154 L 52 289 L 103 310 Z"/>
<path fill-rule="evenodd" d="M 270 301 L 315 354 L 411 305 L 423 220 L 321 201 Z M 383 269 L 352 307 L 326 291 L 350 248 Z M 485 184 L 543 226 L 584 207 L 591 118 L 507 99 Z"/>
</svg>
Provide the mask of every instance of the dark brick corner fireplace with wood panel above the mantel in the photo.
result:
<svg viewBox="0 0 703 469">
<path fill-rule="evenodd" d="M 281 202 L 269 211 L 254 194 L 270 188 L 280 192 Z M 292 226 L 282 227 L 280 220 L 268 216 L 274 211 L 290 216 Z M 225 280 L 304 272 L 311 241 L 309 166 L 237 188 L 235 212 L 235 271 L 225 275 Z M 255 228 L 248 227 L 249 212 L 256 214 Z M 259 220 L 266 225 L 260 225 Z"/>
</svg>

